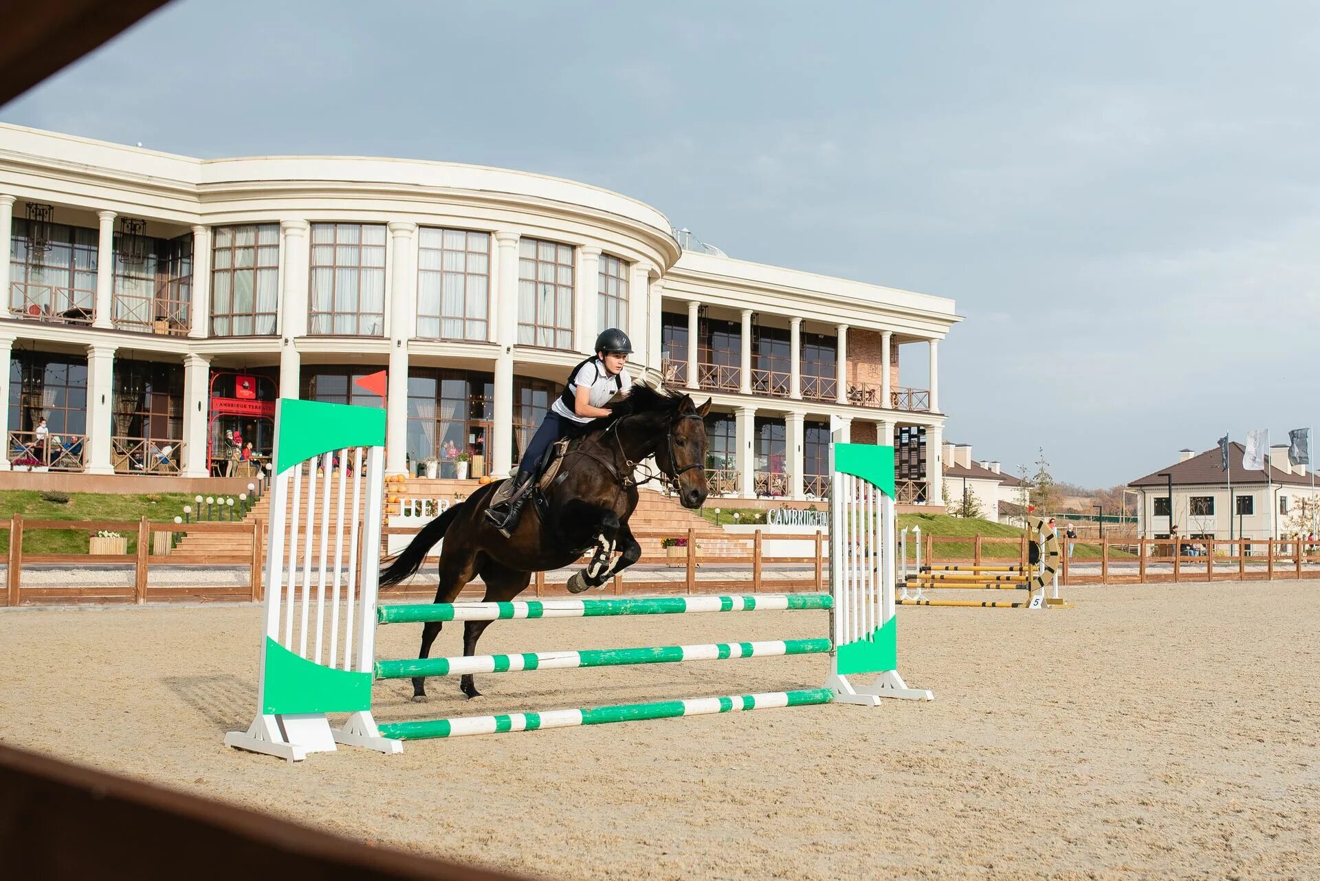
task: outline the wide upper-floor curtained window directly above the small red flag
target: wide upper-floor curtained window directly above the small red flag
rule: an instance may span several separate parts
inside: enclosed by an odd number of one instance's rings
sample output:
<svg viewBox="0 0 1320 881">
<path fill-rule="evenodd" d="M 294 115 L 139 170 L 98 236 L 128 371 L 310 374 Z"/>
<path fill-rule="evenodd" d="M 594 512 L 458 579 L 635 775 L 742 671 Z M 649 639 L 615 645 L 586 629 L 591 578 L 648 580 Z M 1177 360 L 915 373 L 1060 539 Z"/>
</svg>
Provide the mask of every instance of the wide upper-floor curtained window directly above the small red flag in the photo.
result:
<svg viewBox="0 0 1320 881">
<path fill-rule="evenodd" d="M 379 337 L 385 330 L 385 227 L 312 225 L 308 333 Z"/>
</svg>

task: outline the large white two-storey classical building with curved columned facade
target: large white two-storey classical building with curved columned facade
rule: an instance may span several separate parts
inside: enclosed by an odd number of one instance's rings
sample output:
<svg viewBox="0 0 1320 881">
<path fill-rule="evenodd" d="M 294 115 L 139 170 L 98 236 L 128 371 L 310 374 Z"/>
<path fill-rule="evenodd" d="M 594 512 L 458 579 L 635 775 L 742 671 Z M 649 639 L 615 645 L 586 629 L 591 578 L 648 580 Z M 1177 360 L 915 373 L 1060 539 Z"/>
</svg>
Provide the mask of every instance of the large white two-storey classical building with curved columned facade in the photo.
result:
<svg viewBox="0 0 1320 881">
<path fill-rule="evenodd" d="M 503 476 L 620 326 L 634 372 L 714 399 L 715 490 L 820 495 L 834 420 L 896 445 L 906 501 L 940 503 L 953 301 L 685 248 L 585 184 L 0 125 L 0 469 L 205 477 L 232 433 L 260 462 L 275 399 L 304 396 L 385 405 L 391 473 L 467 452 Z M 908 351 L 928 388 L 902 384 Z M 358 383 L 381 370 L 384 400 Z"/>
</svg>

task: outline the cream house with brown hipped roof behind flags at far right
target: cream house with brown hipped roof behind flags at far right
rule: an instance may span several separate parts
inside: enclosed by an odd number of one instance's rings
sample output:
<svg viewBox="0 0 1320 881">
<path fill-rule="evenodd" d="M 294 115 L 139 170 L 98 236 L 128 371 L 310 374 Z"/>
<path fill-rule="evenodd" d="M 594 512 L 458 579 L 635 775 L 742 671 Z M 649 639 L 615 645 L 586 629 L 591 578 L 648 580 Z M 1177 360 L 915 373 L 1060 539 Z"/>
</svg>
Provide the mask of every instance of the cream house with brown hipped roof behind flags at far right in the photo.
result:
<svg viewBox="0 0 1320 881">
<path fill-rule="evenodd" d="M 1242 468 L 1242 444 L 1229 444 L 1230 470 L 1225 474 L 1218 446 L 1200 454 L 1184 449 L 1177 462 L 1131 481 L 1129 489 L 1140 494 L 1140 535 L 1167 539 L 1172 527 L 1188 539 L 1305 535 L 1311 527 L 1305 522 L 1309 515 L 1302 514 L 1303 503 L 1309 511 L 1316 493 L 1307 466 L 1290 466 L 1284 444 L 1270 449 L 1267 470 L 1262 472 Z"/>
</svg>

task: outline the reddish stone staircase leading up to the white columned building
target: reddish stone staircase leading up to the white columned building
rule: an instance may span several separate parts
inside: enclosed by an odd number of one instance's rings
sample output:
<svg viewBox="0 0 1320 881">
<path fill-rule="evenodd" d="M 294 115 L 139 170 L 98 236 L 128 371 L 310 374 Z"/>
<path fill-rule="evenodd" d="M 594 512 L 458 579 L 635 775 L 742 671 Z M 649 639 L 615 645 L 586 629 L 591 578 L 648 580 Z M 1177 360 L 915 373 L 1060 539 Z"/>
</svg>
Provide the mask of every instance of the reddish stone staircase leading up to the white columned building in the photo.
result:
<svg viewBox="0 0 1320 881">
<path fill-rule="evenodd" d="M 317 493 L 317 522 L 321 519 L 321 502 L 322 494 L 321 489 L 323 485 L 318 486 Z M 457 481 L 450 478 L 442 479 L 428 479 L 424 477 L 411 477 L 400 483 L 387 483 L 385 485 L 385 512 L 387 515 L 399 512 L 399 505 L 403 499 L 454 499 L 455 494 L 463 498 L 471 495 L 480 487 L 477 481 Z M 306 502 L 304 501 L 304 505 Z M 289 501 L 285 515 L 292 514 L 293 502 Z M 345 501 L 345 520 L 347 530 L 347 520 L 352 510 L 352 497 L 351 494 Z M 338 522 L 339 507 L 338 507 L 338 482 L 331 487 L 330 491 L 330 547 L 333 552 L 334 547 L 334 531 Z M 260 518 L 263 523 L 271 522 L 271 494 L 263 495 L 257 503 L 247 512 L 243 518 L 246 523 L 252 523 Z M 638 535 L 638 543 L 642 546 L 643 559 L 656 559 L 665 556 L 665 551 L 661 547 L 664 538 L 686 538 L 688 530 L 696 530 L 698 532 L 697 543 L 701 548 L 701 556 L 739 556 L 750 553 L 746 539 L 734 538 L 710 538 L 710 534 L 715 531 L 711 523 L 704 519 L 696 511 L 689 511 L 688 509 L 678 505 L 677 501 L 668 498 L 663 493 L 652 490 L 649 487 L 642 487 L 640 497 L 638 499 L 638 509 L 632 512 L 630 519 L 632 530 Z M 232 535 L 205 535 L 205 534 L 189 534 L 185 535 L 180 543 L 174 547 L 173 556 L 177 561 L 195 561 L 205 563 L 209 557 L 226 555 L 232 556 L 236 552 L 243 552 L 247 548 L 235 548 L 236 536 Z M 264 540 L 263 540 L 264 546 Z M 317 539 L 313 540 L 315 549 L 319 548 Z M 346 552 L 347 555 L 347 552 Z M 301 556 L 301 552 L 300 552 Z"/>
</svg>

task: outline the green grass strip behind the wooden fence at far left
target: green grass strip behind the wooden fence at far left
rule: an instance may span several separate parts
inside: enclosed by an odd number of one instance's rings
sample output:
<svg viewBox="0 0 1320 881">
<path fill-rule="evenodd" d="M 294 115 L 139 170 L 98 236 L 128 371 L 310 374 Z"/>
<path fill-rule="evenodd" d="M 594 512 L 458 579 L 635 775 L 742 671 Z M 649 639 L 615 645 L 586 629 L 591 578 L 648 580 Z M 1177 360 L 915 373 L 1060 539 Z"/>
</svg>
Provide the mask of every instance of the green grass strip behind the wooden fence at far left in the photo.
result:
<svg viewBox="0 0 1320 881">
<path fill-rule="evenodd" d="M 193 505 L 193 497 L 183 493 L 152 493 L 124 495 L 119 493 L 69 493 L 67 503 L 42 501 L 36 490 L 0 491 L 0 519 L 21 514 L 24 520 L 149 520 L 172 522 Z M 136 527 L 124 532 L 128 552 L 136 552 Z M 88 530 L 24 530 L 25 553 L 86 553 Z M 3 547 L 9 546 L 9 530 L 0 530 Z"/>
</svg>

